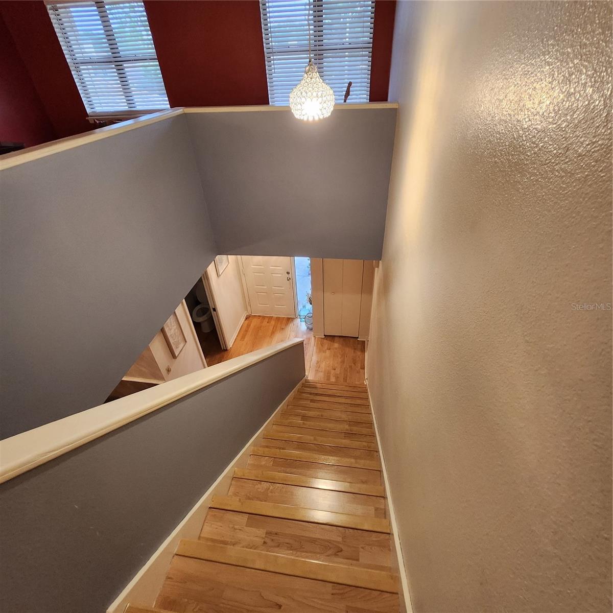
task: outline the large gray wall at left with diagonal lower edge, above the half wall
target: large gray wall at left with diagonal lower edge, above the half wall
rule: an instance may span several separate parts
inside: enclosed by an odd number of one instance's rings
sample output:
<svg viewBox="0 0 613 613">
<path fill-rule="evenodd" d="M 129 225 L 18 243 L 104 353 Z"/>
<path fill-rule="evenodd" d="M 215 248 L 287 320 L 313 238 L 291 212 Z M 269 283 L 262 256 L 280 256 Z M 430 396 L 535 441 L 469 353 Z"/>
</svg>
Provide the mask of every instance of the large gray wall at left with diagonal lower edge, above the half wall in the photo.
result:
<svg viewBox="0 0 613 613">
<path fill-rule="evenodd" d="M 0 173 L 2 438 L 104 402 L 215 257 L 187 129 Z"/>
</svg>

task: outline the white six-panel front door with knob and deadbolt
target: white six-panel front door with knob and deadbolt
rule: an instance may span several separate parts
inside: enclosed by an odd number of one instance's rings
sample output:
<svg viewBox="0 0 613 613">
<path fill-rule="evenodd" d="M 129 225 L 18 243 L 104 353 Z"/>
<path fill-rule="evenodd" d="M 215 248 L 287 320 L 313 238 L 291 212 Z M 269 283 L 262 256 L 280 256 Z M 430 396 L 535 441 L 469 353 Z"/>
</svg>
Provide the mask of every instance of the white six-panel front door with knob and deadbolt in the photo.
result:
<svg viewBox="0 0 613 613">
<path fill-rule="evenodd" d="M 251 314 L 295 317 L 291 257 L 241 256 Z"/>
</svg>

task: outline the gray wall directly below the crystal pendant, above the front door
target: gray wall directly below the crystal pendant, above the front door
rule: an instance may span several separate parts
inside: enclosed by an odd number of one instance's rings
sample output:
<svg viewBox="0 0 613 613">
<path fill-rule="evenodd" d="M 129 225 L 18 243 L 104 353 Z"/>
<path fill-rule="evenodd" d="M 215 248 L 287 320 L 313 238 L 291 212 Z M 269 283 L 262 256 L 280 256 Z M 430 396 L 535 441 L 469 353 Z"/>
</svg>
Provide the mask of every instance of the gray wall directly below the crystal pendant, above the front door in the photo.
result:
<svg viewBox="0 0 613 613">
<path fill-rule="evenodd" d="M 187 119 L 220 253 L 381 259 L 396 109 Z"/>
</svg>

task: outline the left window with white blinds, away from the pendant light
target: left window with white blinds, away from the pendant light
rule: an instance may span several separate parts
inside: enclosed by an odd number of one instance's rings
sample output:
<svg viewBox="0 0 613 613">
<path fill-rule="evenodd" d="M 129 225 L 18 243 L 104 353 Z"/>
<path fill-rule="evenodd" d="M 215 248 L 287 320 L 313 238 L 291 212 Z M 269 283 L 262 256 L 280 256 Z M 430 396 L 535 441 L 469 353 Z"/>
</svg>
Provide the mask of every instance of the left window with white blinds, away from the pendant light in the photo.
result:
<svg viewBox="0 0 613 613">
<path fill-rule="evenodd" d="M 57 2 L 47 9 L 89 115 L 169 108 L 142 2 Z"/>
</svg>

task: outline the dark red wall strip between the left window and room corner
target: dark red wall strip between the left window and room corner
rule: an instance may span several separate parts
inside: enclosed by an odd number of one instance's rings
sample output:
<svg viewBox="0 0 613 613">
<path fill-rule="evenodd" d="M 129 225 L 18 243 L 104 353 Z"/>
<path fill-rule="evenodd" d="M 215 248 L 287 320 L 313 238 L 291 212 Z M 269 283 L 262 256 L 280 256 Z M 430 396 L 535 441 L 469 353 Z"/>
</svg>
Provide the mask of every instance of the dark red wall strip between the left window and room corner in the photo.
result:
<svg viewBox="0 0 613 613">
<path fill-rule="evenodd" d="M 94 128 L 42 0 L 3 0 L 0 15 L 59 138 Z"/>
</svg>

